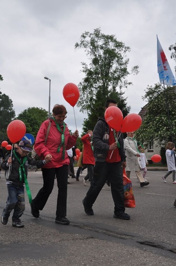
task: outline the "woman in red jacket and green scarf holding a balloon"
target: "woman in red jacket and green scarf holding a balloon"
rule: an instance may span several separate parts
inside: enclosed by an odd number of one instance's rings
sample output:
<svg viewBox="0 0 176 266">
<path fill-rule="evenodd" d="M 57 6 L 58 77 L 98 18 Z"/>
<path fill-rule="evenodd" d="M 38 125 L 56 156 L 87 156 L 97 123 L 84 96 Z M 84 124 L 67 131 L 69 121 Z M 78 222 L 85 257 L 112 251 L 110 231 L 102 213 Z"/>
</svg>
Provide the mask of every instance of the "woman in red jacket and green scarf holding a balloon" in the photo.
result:
<svg viewBox="0 0 176 266">
<path fill-rule="evenodd" d="M 37 133 L 35 151 L 41 159 L 49 158 L 50 162 L 42 167 L 43 187 L 39 190 L 31 204 L 31 213 L 39 217 L 39 210 L 43 210 L 49 195 L 52 193 L 55 175 L 58 184 L 58 198 L 56 209 L 57 224 L 69 225 L 66 216 L 67 178 L 69 158 L 66 150 L 76 145 L 78 130 L 70 135 L 64 122 L 67 110 L 65 106 L 56 104 L 53 108 L 53 118 L 45 120 Z M 49 121 L 51 127 L 45 144 L 45 136 Z"/>
</svg>

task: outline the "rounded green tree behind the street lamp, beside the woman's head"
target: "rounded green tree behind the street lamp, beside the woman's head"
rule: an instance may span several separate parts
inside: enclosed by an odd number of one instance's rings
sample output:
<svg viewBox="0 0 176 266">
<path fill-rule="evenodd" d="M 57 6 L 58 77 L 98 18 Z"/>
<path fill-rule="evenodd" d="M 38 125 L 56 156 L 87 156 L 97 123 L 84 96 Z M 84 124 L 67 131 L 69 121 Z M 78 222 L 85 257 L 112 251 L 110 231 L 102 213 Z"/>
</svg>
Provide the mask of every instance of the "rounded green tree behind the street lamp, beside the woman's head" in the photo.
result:
<svg viewBox="0 0 176 266">
<path fill-rule="evenodd" d="M 41 123 L 48 117 L 48 112 L 43 108 L 29 107 L 23 110 L 17 119 L 21 120 L 27 127 L 27 133 L 36 138 Z"/>
</svg>

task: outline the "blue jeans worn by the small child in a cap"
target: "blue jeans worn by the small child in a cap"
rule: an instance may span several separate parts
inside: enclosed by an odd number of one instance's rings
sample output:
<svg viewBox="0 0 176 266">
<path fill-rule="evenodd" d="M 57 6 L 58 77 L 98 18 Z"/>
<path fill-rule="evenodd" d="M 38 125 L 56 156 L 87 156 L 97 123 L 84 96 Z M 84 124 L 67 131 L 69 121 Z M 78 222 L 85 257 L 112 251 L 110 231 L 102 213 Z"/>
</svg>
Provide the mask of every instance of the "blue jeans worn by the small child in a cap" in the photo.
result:
<svg viewBox="0 0 176 266">
<path fill-rule="evenodd" d="M 24 187 L 16 187 L 12 184 L 7 184 L 7 191 L 8 198 L 3 216 L 8 219 L 11 211 L 14 210 L 12 220 L 17 220 L 21 217 L 25 209 Z"/>
</svg>

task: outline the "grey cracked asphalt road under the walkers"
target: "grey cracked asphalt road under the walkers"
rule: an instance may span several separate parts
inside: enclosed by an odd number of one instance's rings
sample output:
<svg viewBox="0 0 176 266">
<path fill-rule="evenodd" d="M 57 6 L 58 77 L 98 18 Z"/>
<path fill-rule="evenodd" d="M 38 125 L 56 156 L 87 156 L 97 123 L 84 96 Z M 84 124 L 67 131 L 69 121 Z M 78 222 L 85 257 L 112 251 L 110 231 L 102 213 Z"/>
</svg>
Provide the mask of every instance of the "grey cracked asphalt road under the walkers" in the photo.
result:
<svg viewBox="0 0 176 266">
<path fill-rule="evenodd" d="M 75 168 L 77 169 L 77 168 Z M 94 216 L 84 213 L 82 200 L 90 186 L 68 179 L 67 218 L 69 226 L 55 224 L 57 184 L 40 218 L 26 210 L 24 228 L 14 228 L 11 219 L 0 225 L 0 265 L 175 265 L 176 185 L 166 171 L 148 171 L 150 184 L 141 188 L 131 173 L 136 208 L 126 209 L 131 219 L 113 218 L 111 189 L 105 185 L 93 206 Z M 86 170 L 83 172 L 86 174 Z M 0 179 L 0 214 L 7 200 L 4 172 Z M 28 181 L 33 197 L 42 187 L 41 171 L 30 171 Z"/>
</svg>

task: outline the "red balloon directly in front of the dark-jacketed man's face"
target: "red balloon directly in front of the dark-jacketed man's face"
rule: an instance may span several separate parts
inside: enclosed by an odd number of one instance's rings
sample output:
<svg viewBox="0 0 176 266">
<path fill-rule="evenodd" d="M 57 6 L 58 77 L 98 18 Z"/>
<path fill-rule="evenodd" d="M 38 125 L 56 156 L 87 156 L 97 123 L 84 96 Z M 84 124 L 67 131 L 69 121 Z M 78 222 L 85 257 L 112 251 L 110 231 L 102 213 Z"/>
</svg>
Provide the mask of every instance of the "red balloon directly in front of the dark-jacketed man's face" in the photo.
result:
<svg viewBox="0 0 176 266">
<path fill-rule="evenodd" d="M 105 111 L 107 124 L 119 131 L 123 122 L 123 114 L 117 106 L 110 106 Z"/>
</svg>

